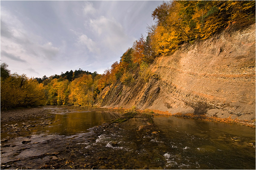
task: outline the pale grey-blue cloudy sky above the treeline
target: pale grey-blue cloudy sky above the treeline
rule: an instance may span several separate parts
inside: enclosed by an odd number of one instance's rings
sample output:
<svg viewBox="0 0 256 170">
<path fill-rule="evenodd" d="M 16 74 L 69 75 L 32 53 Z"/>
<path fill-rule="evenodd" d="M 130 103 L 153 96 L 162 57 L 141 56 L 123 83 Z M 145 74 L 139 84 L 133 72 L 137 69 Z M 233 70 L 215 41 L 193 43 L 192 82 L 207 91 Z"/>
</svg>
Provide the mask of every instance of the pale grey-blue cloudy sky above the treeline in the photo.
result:
<svg viewBox="0 0 256 170">
<path fill-rule="evenodd" d="M 1 63 L 28 77 L 102 74 L 133 46 L 162 1 L 1 1 Z"/>
</svg>

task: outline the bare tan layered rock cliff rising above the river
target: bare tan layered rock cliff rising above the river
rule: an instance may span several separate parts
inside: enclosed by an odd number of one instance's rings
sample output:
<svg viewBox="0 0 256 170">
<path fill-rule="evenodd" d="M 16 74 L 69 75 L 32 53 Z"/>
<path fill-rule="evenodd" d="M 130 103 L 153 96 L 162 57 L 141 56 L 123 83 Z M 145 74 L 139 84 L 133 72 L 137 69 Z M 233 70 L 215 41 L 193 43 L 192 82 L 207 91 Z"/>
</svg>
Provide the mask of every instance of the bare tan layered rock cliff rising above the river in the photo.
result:
<svg viewBox="0 0 256 170">
<path fill-rule="evenodd" d="M 255 55 L 255 24 L 243 30 L 227 28 L 156 58 L 148 83 L 138 75 L 135 85 L 117 82 L 102 91 L 96 104 L 253 120 Z"/>
</svg>

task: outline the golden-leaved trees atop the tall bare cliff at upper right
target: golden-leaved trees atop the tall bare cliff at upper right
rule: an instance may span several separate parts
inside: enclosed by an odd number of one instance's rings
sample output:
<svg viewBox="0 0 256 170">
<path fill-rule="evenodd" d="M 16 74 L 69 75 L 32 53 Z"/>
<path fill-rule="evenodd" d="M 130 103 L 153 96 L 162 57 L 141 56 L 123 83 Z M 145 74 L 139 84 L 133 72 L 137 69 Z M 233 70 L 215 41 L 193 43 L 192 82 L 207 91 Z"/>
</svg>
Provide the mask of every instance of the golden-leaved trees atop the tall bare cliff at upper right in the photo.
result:
<svg viewBox="0 0 256 170">
<path fill-rule="evenodd" d="M 184 42 L 207 39 L 227 28 L 255 23 L 255 1 L 168 1 L 152 13 L 156 21 L 151 45 L 167 54 Z"/>
</svg>

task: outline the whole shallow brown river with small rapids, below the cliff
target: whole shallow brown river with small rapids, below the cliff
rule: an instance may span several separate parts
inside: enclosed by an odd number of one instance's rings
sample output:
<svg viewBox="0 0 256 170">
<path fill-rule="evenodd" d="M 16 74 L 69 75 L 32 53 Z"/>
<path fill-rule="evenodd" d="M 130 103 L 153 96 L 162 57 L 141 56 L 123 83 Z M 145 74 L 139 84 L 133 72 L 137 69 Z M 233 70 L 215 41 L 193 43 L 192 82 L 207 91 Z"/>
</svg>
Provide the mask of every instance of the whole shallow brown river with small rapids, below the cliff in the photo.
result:
<svg viewBox="0 0 256 170">
<path fill-rule="evenodd" d="M 20 137 L 1 133 L 11 136 L 1 169 L 255 169 L 254 128 L 148 115 L 110 125 L 123 114 L 45 109 L 53 116 L 44 126 L 30 124 Z M 24 129 L 23 121 L 9 124 L 16 123 Z"/>
</svg>

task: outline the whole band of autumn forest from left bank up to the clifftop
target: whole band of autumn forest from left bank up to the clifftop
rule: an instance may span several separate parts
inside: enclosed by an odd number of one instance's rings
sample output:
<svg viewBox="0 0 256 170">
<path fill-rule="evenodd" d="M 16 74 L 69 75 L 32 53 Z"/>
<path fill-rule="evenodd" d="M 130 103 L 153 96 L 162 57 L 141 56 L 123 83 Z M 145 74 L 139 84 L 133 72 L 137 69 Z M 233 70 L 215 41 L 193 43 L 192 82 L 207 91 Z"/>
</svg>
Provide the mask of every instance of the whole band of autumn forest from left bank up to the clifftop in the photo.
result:
<svg viewBox="0 0 256 170">
<path fill-rule="evenodd" d="M 131 86 L 154 76 L 149 66 L 184 44 L 208 39 L 230 27 L 241 29 L 255 23 L 255 1 L 168 1 L 151 14 L 155 24 L 141 34 L 103 74 L 81 69 L 60 75 L 28 78 L 11 74 L 1 63 L 1 109 L 42 105 L 93 106 L 101 91 L 122 83 Z M 103 95 L 104 96 L 104 95 Z M 101 100 L 101 99 L 98 99 Z"/>
</svg>

